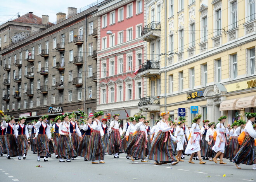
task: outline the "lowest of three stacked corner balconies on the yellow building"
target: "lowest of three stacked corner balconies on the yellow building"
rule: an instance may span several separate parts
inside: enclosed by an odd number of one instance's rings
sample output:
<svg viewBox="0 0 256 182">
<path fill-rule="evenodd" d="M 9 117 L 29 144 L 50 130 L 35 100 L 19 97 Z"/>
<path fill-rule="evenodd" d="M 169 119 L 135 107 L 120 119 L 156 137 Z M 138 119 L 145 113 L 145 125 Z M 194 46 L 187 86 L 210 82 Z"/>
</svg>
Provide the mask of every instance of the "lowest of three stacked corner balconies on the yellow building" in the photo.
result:
<svg viewBox="0 0 256 182">
<path fill-rule="evenodd" d="M 159 96 L 148 96 L 140 98 L 140 102 L 138 103 L 138 109 L 142 109 L 143 112 L 160 111 Z"/>
</svg>

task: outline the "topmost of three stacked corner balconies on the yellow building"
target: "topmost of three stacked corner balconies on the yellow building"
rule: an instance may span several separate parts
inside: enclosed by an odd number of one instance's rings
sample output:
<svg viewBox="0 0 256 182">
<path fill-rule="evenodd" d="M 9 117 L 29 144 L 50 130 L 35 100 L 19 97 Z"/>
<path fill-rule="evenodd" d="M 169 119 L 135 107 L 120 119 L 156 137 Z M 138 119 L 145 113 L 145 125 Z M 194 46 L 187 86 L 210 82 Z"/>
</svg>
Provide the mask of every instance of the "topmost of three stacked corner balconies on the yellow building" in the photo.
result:
<svg viewBox="0 0 256 182">
<path fill-rule="evenodd" d="M 141 37 L 144 41 L 151 42 L 161 37 L 161 22 L 151 22 L 143 27 Z"/>
</svg>

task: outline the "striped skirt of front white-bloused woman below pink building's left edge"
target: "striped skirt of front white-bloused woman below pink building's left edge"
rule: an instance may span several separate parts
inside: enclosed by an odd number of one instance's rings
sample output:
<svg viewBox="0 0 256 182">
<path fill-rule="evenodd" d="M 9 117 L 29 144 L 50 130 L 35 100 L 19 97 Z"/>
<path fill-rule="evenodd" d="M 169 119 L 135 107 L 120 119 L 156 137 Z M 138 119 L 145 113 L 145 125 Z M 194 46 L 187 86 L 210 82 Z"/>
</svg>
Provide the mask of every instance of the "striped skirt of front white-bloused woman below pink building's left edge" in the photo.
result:
<svg viewBox="0 0 256 182">
<path fill-rule="evenodd" d="M 89 140 L 86 158 L 88 160 L 104 160 L 104 153 L 104 143 L 100 132 L 93 131 Z"/>
</svg>

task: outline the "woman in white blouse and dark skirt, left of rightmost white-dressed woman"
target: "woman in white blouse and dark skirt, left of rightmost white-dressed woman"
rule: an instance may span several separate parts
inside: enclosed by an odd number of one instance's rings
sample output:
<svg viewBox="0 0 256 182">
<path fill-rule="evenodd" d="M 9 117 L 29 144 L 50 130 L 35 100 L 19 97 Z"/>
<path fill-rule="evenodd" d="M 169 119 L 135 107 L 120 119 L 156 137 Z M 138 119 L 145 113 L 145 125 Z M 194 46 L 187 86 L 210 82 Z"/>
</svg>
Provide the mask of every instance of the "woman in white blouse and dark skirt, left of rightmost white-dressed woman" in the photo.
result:
<svg viewBox="0 0 256 182">
<path fill-rule="evenodd" d="M 209 129 L 206 132 L 206 151 L 205 151 L 205 157 L 208 158 L 209 161 L 212 161 L 213 157 L 216 155 L 216 152 L 211 150 L 213 146 L 215 145 L 215 140 L 213 139 L 213 134 L 215 132 L 215 122 L 211 122 L 208 124 Z"/>
</svg>

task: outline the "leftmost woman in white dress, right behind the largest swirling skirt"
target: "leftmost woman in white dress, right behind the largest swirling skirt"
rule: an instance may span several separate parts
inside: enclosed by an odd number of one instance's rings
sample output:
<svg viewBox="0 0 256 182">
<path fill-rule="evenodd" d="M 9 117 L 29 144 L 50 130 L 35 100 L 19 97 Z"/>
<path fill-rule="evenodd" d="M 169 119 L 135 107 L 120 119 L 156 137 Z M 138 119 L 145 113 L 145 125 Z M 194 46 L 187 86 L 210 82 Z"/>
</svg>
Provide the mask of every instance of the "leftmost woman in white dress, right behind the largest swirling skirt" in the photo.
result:
<svg viewBox="0 0 256 182">
<path fill-rule="evenodd" d="M 184 162 L 184 160 L 181 159 L 182 151 L 184 150 L 183 145 L 187 145 L 187 140 L 185 138 L 185 132 L 183 129 L 183 125 L 185 123 L 185 120 L 179 121 L 178 128 L 176 128 L 174 136 L 177 139 L 177 148 L 176 151 L 178 151 L 177 155 L 175 156 L 177 161 Z"/>
</svg>

